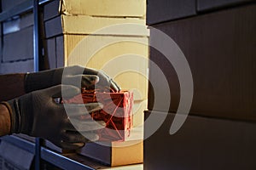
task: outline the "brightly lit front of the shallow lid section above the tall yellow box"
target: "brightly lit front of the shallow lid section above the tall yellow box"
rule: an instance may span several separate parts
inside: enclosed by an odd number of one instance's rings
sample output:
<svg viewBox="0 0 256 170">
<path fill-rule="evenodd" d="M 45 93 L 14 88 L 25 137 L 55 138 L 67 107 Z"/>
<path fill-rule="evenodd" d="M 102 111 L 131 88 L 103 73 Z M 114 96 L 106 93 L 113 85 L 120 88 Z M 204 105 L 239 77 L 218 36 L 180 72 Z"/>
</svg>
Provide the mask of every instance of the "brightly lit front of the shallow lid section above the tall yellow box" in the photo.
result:
<svg viewBox="0 0 256 170">
<path fill-rule="evenodd" d="M 149 35 L 147 27 L 145 26 L 145 20 L 137 18 L 106 18 L 62 14 L 61 20 L 63 33 L 66 34 Z M 124 24 L 133 24 L 133 29 L 125 29 L 127 26 Z"/>
</svg>

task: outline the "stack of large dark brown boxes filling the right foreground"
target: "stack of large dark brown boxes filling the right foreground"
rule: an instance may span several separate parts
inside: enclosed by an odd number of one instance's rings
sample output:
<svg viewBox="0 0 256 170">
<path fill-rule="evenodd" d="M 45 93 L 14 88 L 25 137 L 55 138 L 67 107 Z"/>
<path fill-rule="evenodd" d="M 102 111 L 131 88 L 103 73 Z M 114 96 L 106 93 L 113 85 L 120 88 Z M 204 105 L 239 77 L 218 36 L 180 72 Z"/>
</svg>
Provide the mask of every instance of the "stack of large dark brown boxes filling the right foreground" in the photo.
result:
<svg viewBox="0 0 256 170">
<path fill-rule="evenodd" d="M 149 65 L 154 88 L 148 90 L 146 115 L 167 118 L 144 141 L 144 168 L 255 169 L 255 1 L 148 0 L 147 14 L 148 25 L 165 32 L 183 51 L 193 77 L 194 96 L 183 126 L 170 134 L 180 94 L 189 93 L 181 92 L 182 82 L 168 62 L 177 55 L 150 48 L 149 58 L 165 77 Z M 161 43 L 152 29 L 149 44 L 155 42 Z M 172 43 L 167 45 L 173 48 Z M 170 89 L 162 88 L 164 78 Z M 170 108 L 160 105 L 165 97 L 159 105 L 154 103 L 154 94 L 165 96 L 169 91 Z M 149 130 L 145 127 L 145 133 Z"/>
</svg>

